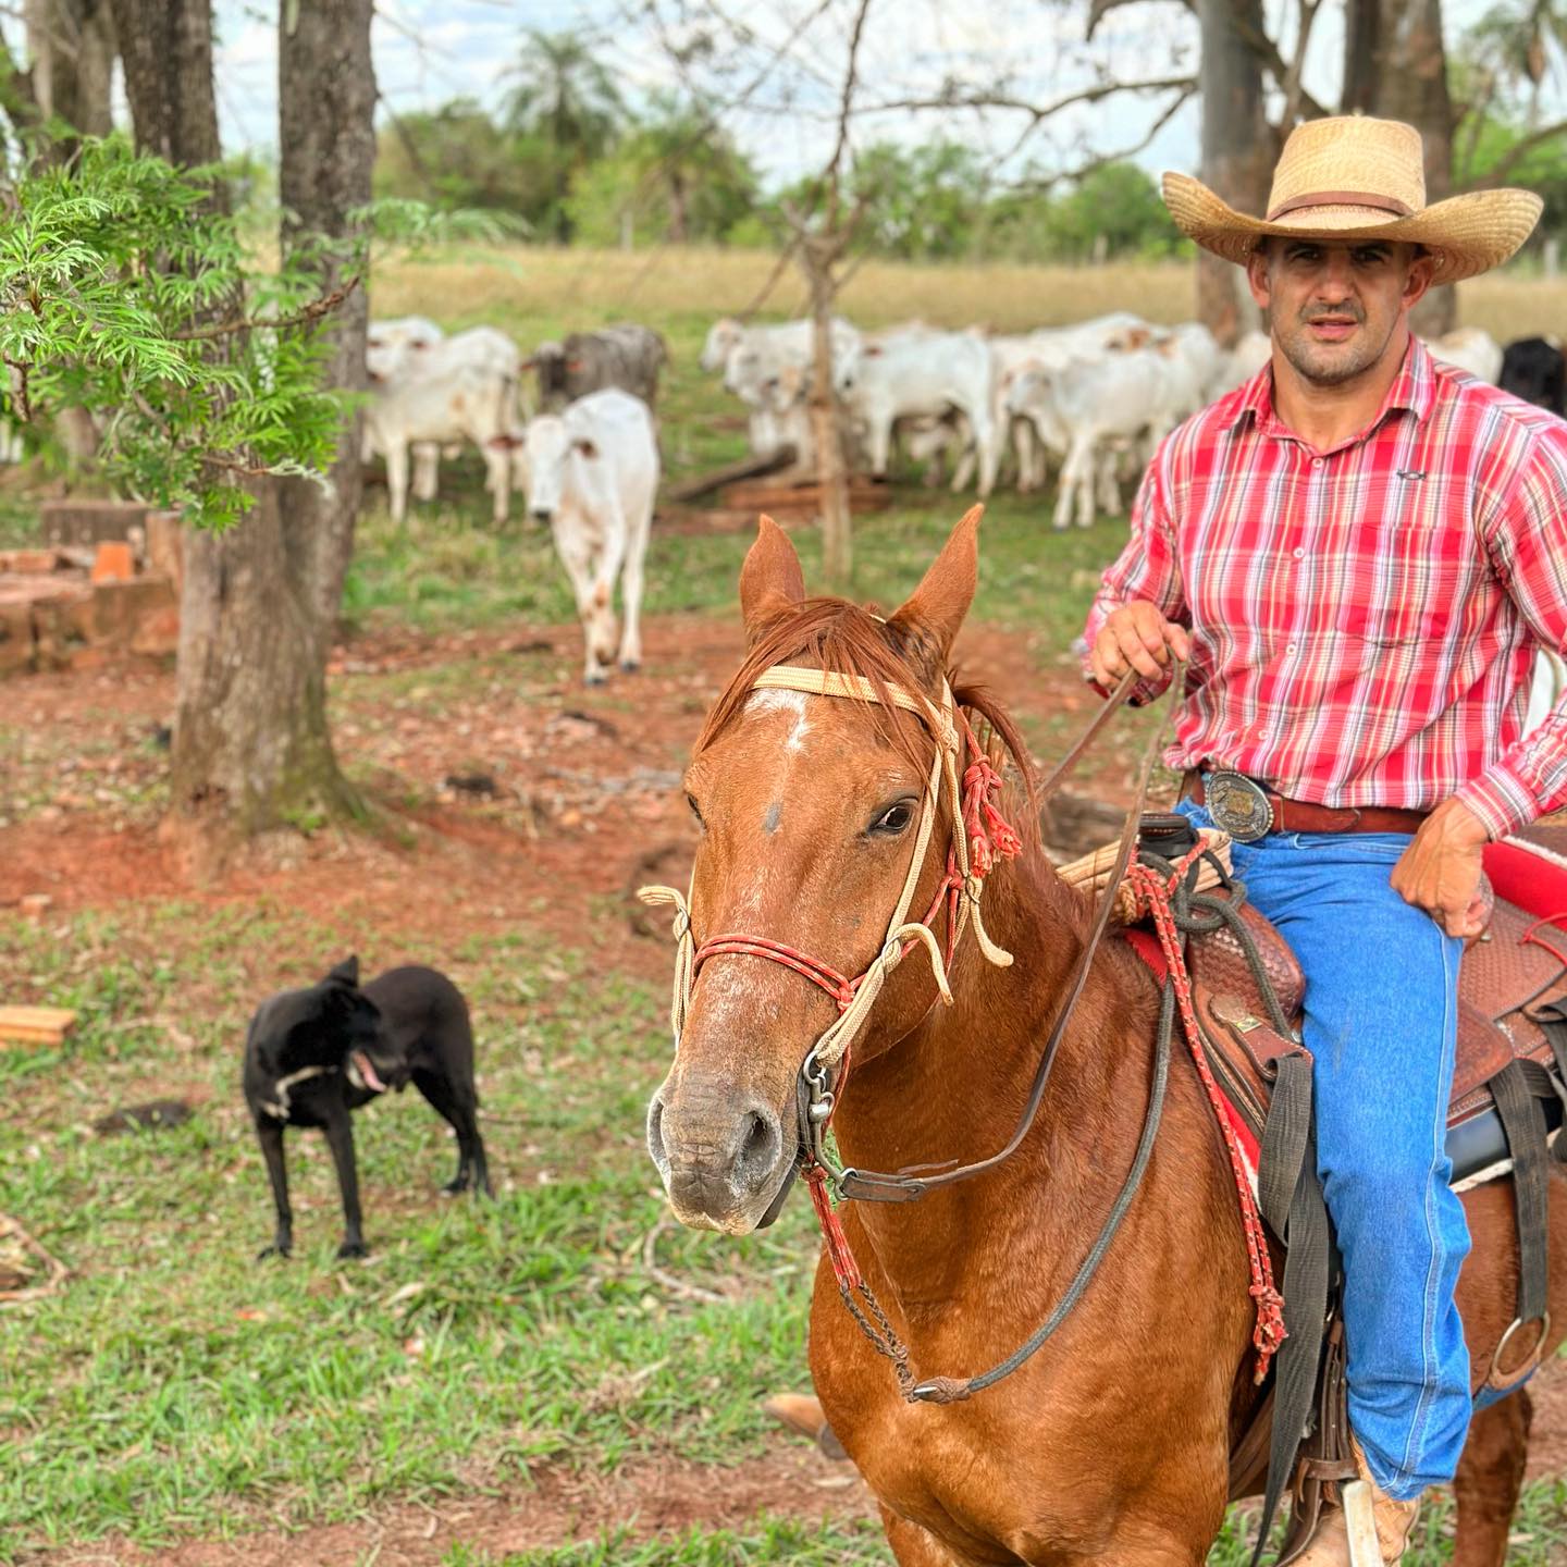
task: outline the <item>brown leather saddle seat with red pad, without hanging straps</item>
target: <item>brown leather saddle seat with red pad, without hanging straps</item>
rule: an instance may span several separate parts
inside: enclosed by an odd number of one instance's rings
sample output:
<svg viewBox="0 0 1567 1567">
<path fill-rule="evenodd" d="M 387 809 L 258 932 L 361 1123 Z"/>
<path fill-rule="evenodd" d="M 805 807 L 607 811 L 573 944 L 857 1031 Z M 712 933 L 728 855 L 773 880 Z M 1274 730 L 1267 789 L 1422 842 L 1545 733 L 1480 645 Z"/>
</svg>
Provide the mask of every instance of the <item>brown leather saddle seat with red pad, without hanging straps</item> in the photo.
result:
<svg viewBox="0 0 1567 1567">
<path fill-rule="evenodd" d="M 1486 874 L 1496 896 L 1487 929 L 1470 942 L 1459 968 L 1449 1128 L 1492 1109 L 1487 1084 L 1512 1061 L 1553 1066 L 1550 1039 L 1531 1014 L 1550 1003 L 1567 1006 L 1567 827 L 1536 826 L 1490 845 Z M 1294 953 L 1249 904 L 1239 917 L 1297 1034 L 1304 979 Z M 1269 1022 L 1241 943 L 1227 926 L 1194 935 L 1186 964 L 1197 1015 L 1213 1047 L 1214 1073 L 1243 1119 L 1260 1133 L 1274 1062 L 1297 1050 L 1299 1040 Z M 1453 1145 L 1449 1131 L 1449 1152 Z"/>
</svg>

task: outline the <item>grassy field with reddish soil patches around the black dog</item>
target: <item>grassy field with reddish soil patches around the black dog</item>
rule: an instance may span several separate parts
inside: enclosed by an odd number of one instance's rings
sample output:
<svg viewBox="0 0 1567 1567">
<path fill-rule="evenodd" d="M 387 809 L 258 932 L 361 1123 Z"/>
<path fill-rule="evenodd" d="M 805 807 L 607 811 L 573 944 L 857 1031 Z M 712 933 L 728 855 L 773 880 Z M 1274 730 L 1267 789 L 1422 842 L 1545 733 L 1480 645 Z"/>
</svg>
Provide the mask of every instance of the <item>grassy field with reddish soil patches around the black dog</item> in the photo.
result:
<svg viewBox="0 0 1567 1567">
<path fill-rule="evenodd" d="M 746 306 L 766 273 L 768 259 L 757 255 L 516 249 L 390 266 L 375 309 L 418 310 L 448 326 L 492 321 L 523 343 L 613 318 L 657 324 L 675 356 L 663 439 L 679 475 L 743 443 L 735 409 L 696 370 L 696 353 L 711 317 Z M 788 282 L 773 307 L 793 310 L 796 295 Z M 1567 285 L 1501 277 L 1467 285 L 1464 298 L 1467 317 L 1500 335 L 1567 332 Z M 1189 273 L 870 265 L 845 304 L 867 324 L 925 315 L 1011 328 L 1119 306 L 1177 320 L 1189 313 Z M 406 805 L 409 832 L 423 831 L 436 796 L 411 765 L 389 774 L 387 758 L 417 744 L 420 726 L 445 724 L 442 743 L 472 747 L 483 762 L 497 744 L 484 732 L 486 702 L 498 710 L 509 700 L 545 727 L 625 726 L 650 704 L 646 686 L 581 693 L 570 633 L 556 635 L 555 652 L 528 652 L 541 632 L 572 622 L 547 537 L 516 514 L 494 530 L 472 464 L 448 465 L 445 494 L 401 528 L 379 500 L 368 506 L 348 586 L 345 668 L 331 686 L 346 763 L 367 788 Z M 857 595 L 898 602 L 964 505 L 904 484 L 893 509 L 860 520 Z M 0 542 L 33 536 L 27 500 L 0 498 Z M 1119 519 L 1053 534 L 1039 501 L 1011 495 L 990 508 L 975 613 L 1015 647 L 1025 686 L 1061 677 L 1097 574 L 1124 536 Z M 816 539 L 799 530 L 798 541 L 813 580 Z M 649 613 L 674 625 L 732 622 L 746 544 L 744 533 L 655 525 Z M 384 668 L 359 668 L 387 647 L 407 653 L 406 666 L 385 658 Z M 710 696 L 708 669 L 693 663 L 669 677 L 686 682 L 663 697 L 686 726 Z M 166 686 L 166 674 L 158 679 Z M 80 689 L 0 686 L 0 882 L 8 843 L 24 837 L 36 848 L 50 834 L 124 826 L 150 841 L 165 798 L 146 722 L 155 702 L 130 716 L 132 696 L 113 674 L 97 685 L 83 677 Z M 124 718 L 114 711 L 122 704 Z M 1042 749 L 1072 722 L 1045 704 L 1022 716 Z M 679 766 L 679 746 L 666 751 L 653 762 Z M 542 773 L 530 755 L 517 765 Z M 50 813 L 58 818 L 67 785 L 80 805 L 56 826 Z M 475 874 L 475 860 L 456 852 L 456 829 L 525 846 L 523 813 L 497 807 L 458 820 L 448 810 L 443 821 L 456 907 Z M 603 843 L 589 827 L 555 810 L 545 831 L 592 857 Z M 650 818 L 642 831 L 657 841 L 668 829 Z M 498 838 L 475 841 L 483 852 Z M 566 928 L 547 879 L 508 888 L 497 878 L 486 918 L 472 918 L 473 899 L 447 918 L 439 878 L 432 885 L 428 876 L 428 857 L 445 851 L 418 852 L 425 879 L 409 870 L 401 840 L 323 835 L 304 851 L 315 893 L 273 874 L 243 895 L 85 895 L 42 925 L 0 906 L 5 998 L 81 1012 L 61 1051 L 0 1051 L 0 1210 L 74 1271 L 61 1294 L 0 1310 L 0 1564 L 139 1567 L 183 1561 L 182 1542 L 298 1531 L 298 1554 L 287 1559 L 368 1567 L 390 1559 L 370 1529 L 389 1509 L 422 1507 L 432 1518 L 458 1504 L 522 1511 L 528 1498 L 555 1495 L 552 1487 L 592 1481 L 621 1496 L 624 1515 L 589 1509 L 589 1537 L 563 1529 L 559 1540 L 522 1550 L 453 1543 L 440 1561 L 887 1567 L 863 1504 L 813 1506 L 809 1515 L 791 1507 L 791 1498 L 835 1493 L 812 1490 L 818 1479 L 787 1467 L 796 1448 L 758 1409 L 762 1395 L 804 1382 L 816 1254 L 807 1207 L 796 1203 L 774 1230 L 740 1244 L 661 1222 L 641 1116 L 666 1066 L 663 950 L 652 964 L 622 961 L 624 910 L 610 893 L 588 898 L 588 917 Z M 91 862 L 83 876 L 94 876 Z M 370 887 L 364 898 L 320 896 L 332 878 L 359 876 Z M 469 995 L 497 1202 L 436 1199 L 453 1145 L 409 1097 L 354 1127 L 370 1261 L 334 1265 L 331 1161 L 318 1138 L 291 1136 L 296 1257 L 259 1265 L 271 1207 L 238 1094 L 244 1019 L 259 997 L 315 978 L 348 951 L 365 972 L 411 956 L 437 961 Z M 94 1130 L 103 1109 L 169 1091 L 194 1103 L 188 1124 L 128 1136 Z M 657 1490 L 671 1473 L 697 1476 L 718 1500 L 771 1476 L 773 1501 L 649 1539 L 627 1496 L 644 1484 L 639 1476 Z M 622 1481 L 624 1495 L 613 1490 Z M 1449 1556 L 1449 1526 L 1443 1507 L 1432 1511 L 1410 1558 L 1417 1567 Z M 357 1543 L 309 1554 L 323 1531 Z M 132 1554 L 133 1545 L 146 1554 Z M 1567 1489 L 1537 1482 L 1509 1559 L 1536 1567 L 1564 1548 Z M 1213 1561 L 1239 1567 L 1244 1556 L 1238 1518 Z"/>
</svg>

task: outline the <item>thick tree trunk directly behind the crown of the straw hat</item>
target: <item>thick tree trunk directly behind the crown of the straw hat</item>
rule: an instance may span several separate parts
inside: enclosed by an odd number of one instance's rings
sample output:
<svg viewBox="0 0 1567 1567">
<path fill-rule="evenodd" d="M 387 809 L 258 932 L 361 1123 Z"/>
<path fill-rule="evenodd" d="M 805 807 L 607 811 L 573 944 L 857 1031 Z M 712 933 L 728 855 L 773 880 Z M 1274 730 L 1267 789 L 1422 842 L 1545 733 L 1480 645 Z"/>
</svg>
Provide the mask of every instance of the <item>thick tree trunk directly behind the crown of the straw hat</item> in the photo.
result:
<svg viewBox="0 0 1567 1567">
<path fill-rule="evenodd" d="M 1402 119 L 1426 150 L 1426 201 L 1453 191 L 1453 100 L 1442 44 L 1442 0 L 1349 0 L 1344 24 L 1344 111 Z M 1448 332 L 1457 291 L 1434 288 L 1413 315 L 1417 331 Z"/>
</svg>

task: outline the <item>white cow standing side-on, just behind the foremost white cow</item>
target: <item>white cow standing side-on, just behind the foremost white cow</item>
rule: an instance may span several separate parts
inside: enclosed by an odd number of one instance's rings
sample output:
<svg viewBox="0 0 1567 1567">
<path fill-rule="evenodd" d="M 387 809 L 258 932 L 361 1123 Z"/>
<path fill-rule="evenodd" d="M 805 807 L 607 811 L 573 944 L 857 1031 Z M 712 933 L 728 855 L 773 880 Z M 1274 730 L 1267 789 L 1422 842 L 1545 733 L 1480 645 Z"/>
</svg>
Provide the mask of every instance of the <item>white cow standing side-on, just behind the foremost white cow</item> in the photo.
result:
<svg viewBox="0 0 1567 1567">
<path fill-rule="evenodd" d="M 365 443 L 387 459 L 392 517 L 407 516 L 409 448 L 470 442 L 484 456 L 486 487 L 497 523 L 511 501 L 506 439 L 514 428 L 517 389 L 492 371 L 458 365 L 393 379 L 365 409 Z M 426 497 L 422 497 L 426 498 Z"/>
</svg>

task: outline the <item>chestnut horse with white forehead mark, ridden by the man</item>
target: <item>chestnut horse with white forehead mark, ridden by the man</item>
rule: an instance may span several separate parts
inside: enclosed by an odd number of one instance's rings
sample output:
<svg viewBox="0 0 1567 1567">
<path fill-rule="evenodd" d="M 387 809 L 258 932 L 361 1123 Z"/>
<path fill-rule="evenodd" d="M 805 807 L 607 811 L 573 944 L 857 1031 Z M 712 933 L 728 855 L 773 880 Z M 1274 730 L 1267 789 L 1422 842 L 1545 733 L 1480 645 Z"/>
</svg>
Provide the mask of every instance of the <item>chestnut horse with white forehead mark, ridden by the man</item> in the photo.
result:
<svg viewBox="0 0 1567 1567">
<path fill-rule="evenodd" d="M 704 831 L 691 881 L 697 940 L 746 932 L 841 975 L 868 970 L 884 951 L 920 846 L 935 741 L 890 704 L 755 691 L 754 682 L 769 666 L 807 666 L 859 674 L 884 697 L 898 686 L 937 702 L 975 592 L 976 534 L 978 511 L 884 622 L 840 600 L 807 600 L 793 547 L 762 520 L 740 578 L 751 652 L 686 774 Z M 1004 715 L 979 691 L 957 688 L 956 700 L 990 719 L 1026 771 Z M 951 829 L 943 796 L 915 910 L 939 893 Z M 986 962 L 968 934 L 950 965 L 950 1006 L 935 1004 L 925 954 L 890 973 L 838 1084 L 834 1131 L 852 1166 L 978 1161 L 1019 1119 L 1092 910 L 1037 843 L 986 887 L 984 925 L 1015 962 Z M 920 1376 L 990 1368 L 1069 1290 L 1135 1158 L 1156 1012 L 1141 961 L 1124 942 L 1103 943 L 1017 1153 L 920 1202 L 841 1211 Z M 743 1235 L 777 1203 L 796 1156 L 801 1066 L 837 1017 L 831 995 L 780 962 L 730 950 L 700 964 L 647 1124 L 682 1222 Z M 1559 1199 L 1553 1186 L 1551 1313 L 1567 1324 Z M 1514 1315 L 1511 1183 L 1470 1192 L 1465 1208 L 1475 1246 L 1459 1305 L 1484 1376 Z M 1177 1053 L 1141 1189 L 1098 1274 L 1037 1355 L 964 1402 L 907 1402 L 845 1312 L 824 1258 L 810 1370 L 903 1567 L 1194 1567 L 1224 1520 L 1227 1459 L 1257 1396 L 1252 1321 L 1235 1183 L 1197 1077 Z M 1528 1428 L 1526 1391 L 1475 1417 L 1456 1482 L 1462 1567 L 1503 1562 Z"/>
</svg>

